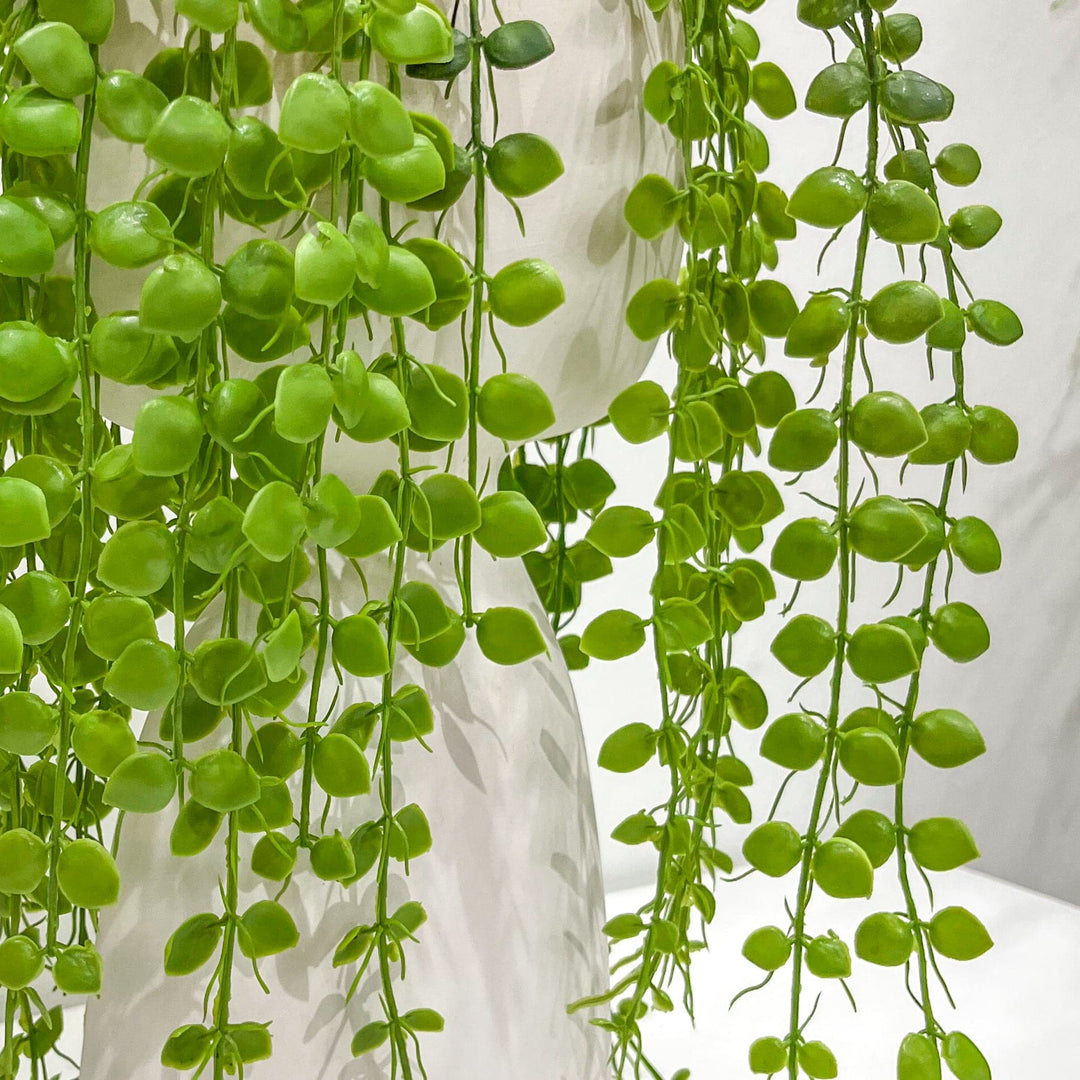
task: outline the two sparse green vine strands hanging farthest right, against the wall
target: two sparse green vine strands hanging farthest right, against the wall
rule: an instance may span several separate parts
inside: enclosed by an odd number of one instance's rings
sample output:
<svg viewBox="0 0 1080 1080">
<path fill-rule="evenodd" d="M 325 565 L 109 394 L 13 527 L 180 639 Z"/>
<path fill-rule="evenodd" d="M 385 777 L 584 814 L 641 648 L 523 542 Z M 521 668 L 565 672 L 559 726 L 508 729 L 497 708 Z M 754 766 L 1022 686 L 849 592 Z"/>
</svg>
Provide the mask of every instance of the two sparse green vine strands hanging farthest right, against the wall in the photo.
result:
<svg viewBox="0 0 1080 1080">
<path fill-rule="evenodd" d="M 921 44 L 922 27 L 910 15 L 881 15 L 881 10 L 891 6 L 866 0 L 839 5 L 804 0 L 799 5 L 802 22 L 829 35 L 834 56 L 833 32 L 847 37 L 854 50 L 847 60 L 823 70 L 808 90 L 808 109 L 842 119 L 841 149 L 833 164 L 811 173 L 796 188 L 787 212 L 808 225 L 834 230 L 833 240 L 858 219 L 859 238 L 851 285 L 811 297 L 786 339 L 789 356 L 805 356 L 823 368 L 823 382 L 829 354 L 842 346 L 838 404 L 832 411 L 805 408 L 789 414 L 769 447 L 773 467 L 796 474 L 831 462 L 838 447 L 836 501 L 828 507 L 833 521 L 789 523 L 772 552 L 773 569 L 796 582 L 824 578 L 837 568 L 835 622 L 799 613 L 773 640 L 775 657 L 802 679 L 792 696 L 799 696 L 801 711 L 775 720 L 761 743 L 762 756 L 793 772 L 818 770 L 810 818 L 802 829 L 770 820 L 758 826 L 743 847 L 750 864 L 765 874 L 783 877 L 796 867 L 799 870 L 788 907 L 789 927 L 764 927 L 743 948 L 747 959 L 769 973 L 766 981 L 791 962 L 787 1031 L 756 1040 L 750 1064 L 754 1072 L 784 1071 L 793 1080 L 800 1069 L 810 1077 L 827 1078 L 835 1077 L 838 1068 L 827 1045 L 805 1036 L 813 1015 L 813 1009 L 804 1009 L 805 975 L 837 978 L 845 988 L 851 975 L 848 944 L 832 931 L 814 934 L 809 929 L 813 889 L 840 899 L 869 896 L 875 869 L 885 865 L 894 850 L 905 910 L 881 912 L 863 920 L 854 947 L 860 958 L 904 966 L 908 974 L 915 958 L 919 989 L 913 997 L 926 1026 L 904 1039 L 897 1075 L 904 1080 L 937 1077 L 942 1058 L 958 1077 L 983 1076 L 980 1069 L 986 1069 L 985 1063 L 978 1064 L 982 1056 L 967 1037 L 946 1034 L 934 1018 L 929 972 L 932 969 L 941 976 L 935 953 L 974 959 L 989 947 L 989 936 L 978 919 L 963 908 L 943 908 L 929 920 L 921 919 L 908 862 L 914 859 L 920 869 L 948 869 L 975 858 L 977 850 L 967 827 L 955 819 L 928 819 L 909 828 L 904 820 L 903 778 L 913 745 L 939 766 L 963 764 L 983 750 L 977 728 L 962 714 L 939 708 L 916 715 L 919 673 L 928 644 L 956 662 L 974 660 L 989 646 L 982 617 L 970 605 L 951 602 L 947 585 L 946 602 L 934 607 L 934 582 L 943 557 L 950 566 L 954 555 L 966 563 L 970 557 L 976 571 L 995 569 L 1000 561 L 997 541 L 985 523 L 968 519 L 969 524 L 958 529 L 948 513 L 958 461 L 966 470 L 968 455 L 976 461 L 999 463 L 1010 460 L 1016 450 L 1015 428 L 1004 414 L 967 404 L 962 349 L 969 328 L 994 345 L 1011 343 L 1022 332 L 1016 316 L 997 301 L 971 298 L 966 308 L 959 306 L 954 245 L 981 246 L 993 238 L 1000 218 L 988 207 L 968 207 L 953 215 L 947 225 L 943 222 L 934 170 L 951 183 L 971 183 L 978 172 L 977 154 L 970 147 L 954 145 L 944 148 L 931 167 L 923 126 L 947 119 L 953 97 L 941 83 L 904 66 Z M 858 175 L 837 161 L 849 121 L 862 112 L 867 122 L 866 159 L 864 172 Z M 879 176 L 882 132 L 893 140 L 896 151 L 885 163 L 883 178 Z M 908 137 L 914 147 L 907 145 Z M 919 245 L 920 279 L 905 279 L 872 292 L 867 273 L 873 238 L 896 247 L 902 270 L 905 246 Z M 945 300 L 927 282 L 928 252 L 935 248 L 943 262 Z M 945 402 L 921 411 L 900 394 L 879 389 L 885 369 L 881 343 L 905 345 L 920 339 L 927 343 L 928 356 L 935 348 L 953 353 L 954 382 Z M 860 369 L 867 392 L 856 400 Z M 932 363 L 930 372 L 932 376 Z M 858 481 L 856 454 L 865 467 Z M 944 465 L 937 500 L 882 494 L 880 464 L 872 459 L 890 458 L 905 459 L 905 469 L 907 464 Z M 874 494 L 864 497 L 867 485 Z M 921 596 L 914 610 L 853 627 L 856 556 L 897 566 L 890 602 L 902 594 L 905 568 L 921 572 Z M 841 723 L 850 692 L 845 689 L 846 670 L 870 691 L 873 704 L 861 705 Z M 827 704 L 816 711 L 804 705 L 804 689 L 826 672 Z M 903 702 L 883 689 L 901 679 L 908 680 Z M 845 820 L 843 808 L 853 793 L 841 795 L 841 769 L 856 785 L 894 786 L 894 820 L 873 810 L 856 811 Z M 825 838 L 831 819 L 839 827 Z M 932 891 L 929 895 L 932 903 Z"/>
</svg>

